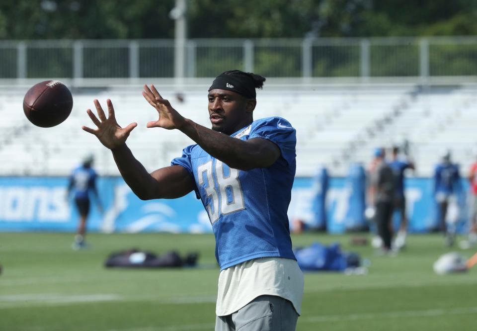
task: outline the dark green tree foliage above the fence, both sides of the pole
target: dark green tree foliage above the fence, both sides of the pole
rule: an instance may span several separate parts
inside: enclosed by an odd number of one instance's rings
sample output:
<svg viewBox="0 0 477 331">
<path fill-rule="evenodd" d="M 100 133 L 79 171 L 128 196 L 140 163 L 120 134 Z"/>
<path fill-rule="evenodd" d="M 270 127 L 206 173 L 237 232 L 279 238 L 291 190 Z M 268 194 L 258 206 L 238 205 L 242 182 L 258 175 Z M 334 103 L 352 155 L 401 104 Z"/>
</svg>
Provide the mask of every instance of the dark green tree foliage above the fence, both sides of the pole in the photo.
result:
<svg viewBox="0 0 477 331">
<path fill-rule="evenodd" d="M 172 38 L 174 0 L 2 0 L 1 39 Z M 475 0 L 188 0 L 190 38 L 477 34 Z"/>
</svg>

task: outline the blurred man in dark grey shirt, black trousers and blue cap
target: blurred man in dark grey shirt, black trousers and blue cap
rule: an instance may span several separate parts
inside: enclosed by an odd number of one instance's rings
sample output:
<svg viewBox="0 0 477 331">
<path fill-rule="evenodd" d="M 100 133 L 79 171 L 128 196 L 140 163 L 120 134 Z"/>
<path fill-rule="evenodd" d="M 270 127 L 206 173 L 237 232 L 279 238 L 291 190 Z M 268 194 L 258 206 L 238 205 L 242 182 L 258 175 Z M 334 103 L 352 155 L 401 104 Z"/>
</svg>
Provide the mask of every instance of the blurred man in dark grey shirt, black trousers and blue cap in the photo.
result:
<svg viewBox="0 0 477 331">
<path fill-rule="evenodd" d="M 382 241 L 382 252 L 391 251 L 391 218 L 394 210 L 396 179 L 393 169 L 385 161 L 384 148 L 376 149 L 370 167 L 369 201 L 374 206 L 374 220 L 378 227 L 378 235 Z M 376 245 L 377 246 L 377 245 Z"/>
</svg>

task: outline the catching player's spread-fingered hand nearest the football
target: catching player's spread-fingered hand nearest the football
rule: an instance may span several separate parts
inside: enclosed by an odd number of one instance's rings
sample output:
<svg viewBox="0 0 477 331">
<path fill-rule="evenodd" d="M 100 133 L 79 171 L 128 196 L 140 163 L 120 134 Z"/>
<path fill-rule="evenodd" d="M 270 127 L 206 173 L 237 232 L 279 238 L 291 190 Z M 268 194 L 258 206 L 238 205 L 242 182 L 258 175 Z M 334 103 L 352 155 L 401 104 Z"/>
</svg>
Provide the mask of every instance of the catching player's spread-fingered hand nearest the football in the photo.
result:
<svg viewBox="0 0 477 331">
<path fill-rule="evenodd" d="M 118 122 L 116 121 L 116 117 L 114 116 L 114 108 L 111 100 L 106 100 L 106 104 L 108 105 L 108 118 L 106 118 L 99 101 L 94 99 L 93 102 L 94 106 L 96 107 L 99 119 L 96 118 L 91 109 L 86 110 L 86 112 L 88 113 L 89 118 L 91 118 L 91 121 L 98 128 L 91 129 L 87 126 L 82 126 L 81 129 L 95 135 L 101 144 L 110 150 L 123 145 L 126 142 L 126 139 L 128 139 L 131 131 L 133 131 L 138 124 L 131 123 L 127 127 L 122 128 L 119 126 Z"/>
</svg>

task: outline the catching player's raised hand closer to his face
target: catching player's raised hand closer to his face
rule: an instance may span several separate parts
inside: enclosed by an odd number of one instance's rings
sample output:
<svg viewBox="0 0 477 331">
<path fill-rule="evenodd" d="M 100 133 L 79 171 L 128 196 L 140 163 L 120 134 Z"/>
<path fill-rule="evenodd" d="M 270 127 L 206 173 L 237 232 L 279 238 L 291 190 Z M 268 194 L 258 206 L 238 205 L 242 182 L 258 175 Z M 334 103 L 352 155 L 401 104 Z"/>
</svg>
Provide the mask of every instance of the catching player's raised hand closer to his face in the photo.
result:
<svg viewBox="0 0 477 331">
<path fill-rule="evenodd" d="M 172 130 L 180 129 L 184 125 L 185 118 L 172 108 L 168 100 L 160 96 L 154 85 L 151 85 L 151 88 L 148 85 L 144 85 L 143 96 L 159 113 L 159 119 L 148 122 L 148 128 L 158 127 Z"/>
</svg>

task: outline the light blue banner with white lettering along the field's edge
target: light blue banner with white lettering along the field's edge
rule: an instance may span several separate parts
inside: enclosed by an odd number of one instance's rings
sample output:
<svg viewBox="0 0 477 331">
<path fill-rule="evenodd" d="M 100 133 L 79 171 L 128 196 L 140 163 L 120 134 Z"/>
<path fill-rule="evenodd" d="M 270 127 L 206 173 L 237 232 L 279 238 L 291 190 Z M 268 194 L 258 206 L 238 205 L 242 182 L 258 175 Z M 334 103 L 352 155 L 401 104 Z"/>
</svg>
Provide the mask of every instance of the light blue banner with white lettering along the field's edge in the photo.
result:
<svg viewBox="0 0 477 331">
<path fill-rule="evenodd" d="M 67 185 L 67 177 L 0 177 L 0 231 L 76 231 L 79 216 L 73 201 L 67 198 Z M 99 212 L 93 199 L 88 231 L 212 231 L 207 213 L 193 192 L 179 199 L 143 201 L 121 177 L 100 177 L 97 185 L 104 212 Z M 300 219 L 310 227 L 316 226 L 316 193 L 313 178 L 295 179 L 288 211 L 291 223 Z M 435 229 L 438 223 L 432 180 L 407 178 L 405 195 L 409 232 Z M 364 219 L 363 208 L 353 207 L 355 196 L 349 179 L 329 178 L 325 198 L 329 233 L 343 233 L 355 226 L 351 222 Z M 465 201 L 463 194 L 449 209 L 461 227 L 467 219 Z"/>
</svg>

